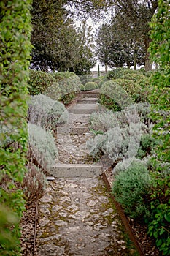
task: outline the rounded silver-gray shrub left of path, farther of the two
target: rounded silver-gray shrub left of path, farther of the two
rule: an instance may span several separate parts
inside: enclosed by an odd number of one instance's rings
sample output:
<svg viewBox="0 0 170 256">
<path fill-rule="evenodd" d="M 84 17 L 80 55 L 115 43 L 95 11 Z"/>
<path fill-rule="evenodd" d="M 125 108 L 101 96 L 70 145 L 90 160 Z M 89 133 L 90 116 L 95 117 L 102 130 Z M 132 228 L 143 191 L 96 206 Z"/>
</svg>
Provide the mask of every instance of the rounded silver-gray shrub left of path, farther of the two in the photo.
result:
<svg viewBox="0 0 170 256">
<path fill-rule="evenodd" d="M 64 105 L 43 94 L 32 96 L 28 107 L 28 121 L 47 129 L 55 129 L 57 124 L 66 123 L 68 119 Z"/>
</svg>

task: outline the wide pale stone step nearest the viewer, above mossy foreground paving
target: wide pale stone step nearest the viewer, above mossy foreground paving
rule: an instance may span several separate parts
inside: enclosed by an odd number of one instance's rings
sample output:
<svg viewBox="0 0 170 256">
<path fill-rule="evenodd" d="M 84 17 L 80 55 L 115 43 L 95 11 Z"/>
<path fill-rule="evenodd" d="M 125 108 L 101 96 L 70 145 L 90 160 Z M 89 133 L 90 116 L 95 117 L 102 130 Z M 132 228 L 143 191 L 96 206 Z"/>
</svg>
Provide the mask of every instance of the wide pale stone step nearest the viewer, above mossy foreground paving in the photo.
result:
<svg viewBox="0 0 170 256">
<path fill-rule="evenodd" d="M 96 178 L 101 173 L 101 165 L 56 164 L 50 170 L 55 178 Z"/>
</svg>

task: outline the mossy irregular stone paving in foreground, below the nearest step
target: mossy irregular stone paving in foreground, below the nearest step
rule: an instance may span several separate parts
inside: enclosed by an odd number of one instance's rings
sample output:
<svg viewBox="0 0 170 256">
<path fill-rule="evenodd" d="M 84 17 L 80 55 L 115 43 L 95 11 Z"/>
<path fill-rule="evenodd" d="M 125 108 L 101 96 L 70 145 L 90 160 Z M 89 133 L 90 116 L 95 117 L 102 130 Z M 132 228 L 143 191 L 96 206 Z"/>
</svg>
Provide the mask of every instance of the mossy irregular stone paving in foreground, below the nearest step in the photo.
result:
<svg viewBox="0 0 170 256">
<path fill-rule="evenodd" d="M 39 200 L 36 255 L 134 255 L 123 232 L 100 179 L 59 178 Z"/>
</svg>

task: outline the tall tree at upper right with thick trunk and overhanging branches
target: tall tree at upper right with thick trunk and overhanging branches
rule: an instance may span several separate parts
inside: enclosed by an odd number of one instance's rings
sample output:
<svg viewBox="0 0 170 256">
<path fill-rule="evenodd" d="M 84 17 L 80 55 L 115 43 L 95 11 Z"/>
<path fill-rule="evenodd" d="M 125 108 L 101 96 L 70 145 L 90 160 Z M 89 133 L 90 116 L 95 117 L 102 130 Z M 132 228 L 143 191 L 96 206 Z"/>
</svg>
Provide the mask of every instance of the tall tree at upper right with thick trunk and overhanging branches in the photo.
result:
<svg viewBox="0 0 170 256">
<path fill-rule="evenodd" d="M 102 29 L 98 33 L 98 57 L 105 64 L 106 57 L 112 62 L 111 67 L 122 67 L 123 63 L 128 66 L 134 64 L 145 64 L 145 69 L 151 69 L 148 48 L 150 45 L 149 22 L 158 7 L 158 0 L 117 0 L 110 2 L 113 10 L 112 20 L 109 23 L 109 34 L 101 37 Z M 108 31 L 107 29 L 107 31 Z M 103 31 L 104 34 L 104 31 Z M 112 35 L 110 37 L 109 35 Z M 101 44 L 109 46 L 102 48 Z M 104 57 L 100 53 L 104 51 Z M 109 53 L 110 56 L 108 56 Z M 120 52 L 122 54 L 120 54 Z M 108 62 L 107 61 L 107 62 Z M 109 63 L 108 63 L 109 64 Z"/>
</svg>

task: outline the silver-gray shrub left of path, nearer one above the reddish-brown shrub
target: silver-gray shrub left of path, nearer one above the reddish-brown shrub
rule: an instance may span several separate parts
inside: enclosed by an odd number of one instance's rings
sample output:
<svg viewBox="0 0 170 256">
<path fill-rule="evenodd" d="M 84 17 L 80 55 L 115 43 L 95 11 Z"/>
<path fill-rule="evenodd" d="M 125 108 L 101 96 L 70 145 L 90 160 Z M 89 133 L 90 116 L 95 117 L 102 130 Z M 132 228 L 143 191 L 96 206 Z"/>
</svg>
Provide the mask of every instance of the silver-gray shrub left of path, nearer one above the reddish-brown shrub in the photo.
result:
<svg viewBox="0 0 170 256">
<path fill-rule="evenodd" d="M 58 157 L 58 149 L 51 132 L 36 124 L 28 124 L 28 160 L 34 162 L 47 173 Z"/>
</svg>

